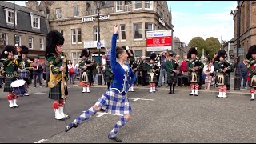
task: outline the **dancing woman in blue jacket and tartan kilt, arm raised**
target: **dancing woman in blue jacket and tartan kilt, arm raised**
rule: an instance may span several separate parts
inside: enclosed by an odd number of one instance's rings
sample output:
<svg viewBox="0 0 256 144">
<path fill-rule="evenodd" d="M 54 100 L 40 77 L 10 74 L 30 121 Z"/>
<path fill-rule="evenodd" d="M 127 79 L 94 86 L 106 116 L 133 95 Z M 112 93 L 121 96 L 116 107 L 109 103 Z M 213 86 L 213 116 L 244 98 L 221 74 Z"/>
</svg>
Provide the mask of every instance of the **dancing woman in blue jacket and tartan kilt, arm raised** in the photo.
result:
<svg viewBox="0 0 256 144">
<path fill-rule="evenodd" d="M 118 27 L 119 26 L 113 26 L 114 32 L 111 41 L 110 65 L 114 74 L 114 81 L 111 83 L 110 89 L 98 99 L 94 106 L 85 110 L 78 118 L 66 126 L 66 132 L 72 127 L 77 127 L 81 121 L 91 118 L 102 106 L 106 106 L 106 113 L 123 115 L 108 135 L 108 138 L 116 142 L 122 141 L 117 137 L 117 133 L 122 126 L 125 126 L 126 122 L 128 122 L 131 117 L 131 106 L 130 100 L 127 98 L 127 92 L 129 87 L 134 83 L 135 75 L 131 71 L 130 66 L 125 63 L 128 57 L 126 49 L 116 47 Z"/>
</svg>

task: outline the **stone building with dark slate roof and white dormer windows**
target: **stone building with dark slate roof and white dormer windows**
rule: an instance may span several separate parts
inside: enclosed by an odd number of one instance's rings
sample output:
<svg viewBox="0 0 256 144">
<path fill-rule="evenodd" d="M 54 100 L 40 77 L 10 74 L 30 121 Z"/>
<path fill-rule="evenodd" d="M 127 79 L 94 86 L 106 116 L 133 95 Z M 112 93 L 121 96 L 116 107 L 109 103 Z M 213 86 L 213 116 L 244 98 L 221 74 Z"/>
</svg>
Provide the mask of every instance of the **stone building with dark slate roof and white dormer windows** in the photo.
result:
<svg viewBox="0 0 256 144">
<path fill-rule="evenodd" d="M 44 59 L 46 34 L 48 33 L 46 18 L 39 12 L 38 2 L 28 1 L 26 6 L 14 6 L 10 2 L 0 2 L 1 52 L 6 45 L 25 45 L 30 50 L 29 58 L 39 56 Z"/>
</svg>

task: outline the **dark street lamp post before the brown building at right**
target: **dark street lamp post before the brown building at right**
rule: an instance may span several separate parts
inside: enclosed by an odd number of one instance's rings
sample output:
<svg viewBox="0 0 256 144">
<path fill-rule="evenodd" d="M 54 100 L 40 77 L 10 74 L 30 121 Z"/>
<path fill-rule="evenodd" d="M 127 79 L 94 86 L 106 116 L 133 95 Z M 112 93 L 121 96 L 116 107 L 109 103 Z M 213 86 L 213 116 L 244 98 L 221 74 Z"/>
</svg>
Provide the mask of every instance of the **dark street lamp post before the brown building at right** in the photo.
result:
<svg viewBox="0 0 256 144">
<path fill-rule="evenodd" d="M 239 48 L 240 48 L 240 14 L 241 14 L 241 10 L 240 10 L 240 1 L 238 2 L 238 6 L 237 6 L 237 14 L 236 14 L 236 18 L 237 18 L 237 58 L 236 58 L 236 63 L 235 63 L 235 71 L 234 71 L 234 90 L 240 90 L 240 86 L 241 86 L 241 79 L 240 79 L 240 68 L 238 66 L 238 63 L 240 62 L 240 58 L 239 58 Z M 231 10 L 230 14 L 234 14 L 233 10 Z"/>
</svg>

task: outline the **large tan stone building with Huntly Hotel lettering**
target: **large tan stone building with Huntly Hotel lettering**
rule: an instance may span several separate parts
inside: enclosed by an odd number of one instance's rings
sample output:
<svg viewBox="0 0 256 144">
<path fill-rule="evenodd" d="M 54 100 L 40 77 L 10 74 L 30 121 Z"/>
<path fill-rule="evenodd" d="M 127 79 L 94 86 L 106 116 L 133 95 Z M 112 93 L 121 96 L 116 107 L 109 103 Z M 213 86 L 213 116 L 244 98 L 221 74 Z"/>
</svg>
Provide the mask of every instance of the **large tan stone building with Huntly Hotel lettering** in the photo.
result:
<svg viewBox="0 0 256 144">
<path fill-rule="evenodd" d="M 117 46 L 130 46 L 136 57 L 150 56 L 146 51 L 146 31 L 170 30 L 171 13 L 166 1 L 102 1 L 99 10 L 101 55 L 110 50 L 112 26 L 120 25 Z M 98 59 L 98 11 L 94 1 L 41 1 L 50 30 L 59 30 L 65 38 L 63 50 L 73 63 L 87 48 Z"/>
</svg>

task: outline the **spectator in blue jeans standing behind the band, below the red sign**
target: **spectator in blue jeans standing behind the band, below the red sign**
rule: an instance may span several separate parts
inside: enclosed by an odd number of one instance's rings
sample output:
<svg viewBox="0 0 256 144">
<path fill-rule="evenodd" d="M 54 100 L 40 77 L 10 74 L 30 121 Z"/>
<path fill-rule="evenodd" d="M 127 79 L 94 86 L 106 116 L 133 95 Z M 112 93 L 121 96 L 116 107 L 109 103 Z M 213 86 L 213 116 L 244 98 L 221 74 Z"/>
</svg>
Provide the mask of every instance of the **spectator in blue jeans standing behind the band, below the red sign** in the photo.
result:
<svg viewBox="0 0 256 144">
<path fill-rule="evenodd" d="M 158 80 L 158 87 L 162 86 L 162 77 L 164 77 L 165 85 L 168 86 L 167 83 L 167 71 L 166 71 L 166 59 L 167 59 L 167 52 L 162 51 L 159 53 L 161 57 L 161 66 L 160 66 L 160 75 Z"/>
</svg>

